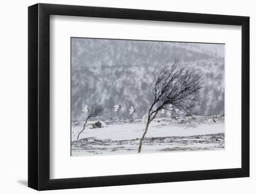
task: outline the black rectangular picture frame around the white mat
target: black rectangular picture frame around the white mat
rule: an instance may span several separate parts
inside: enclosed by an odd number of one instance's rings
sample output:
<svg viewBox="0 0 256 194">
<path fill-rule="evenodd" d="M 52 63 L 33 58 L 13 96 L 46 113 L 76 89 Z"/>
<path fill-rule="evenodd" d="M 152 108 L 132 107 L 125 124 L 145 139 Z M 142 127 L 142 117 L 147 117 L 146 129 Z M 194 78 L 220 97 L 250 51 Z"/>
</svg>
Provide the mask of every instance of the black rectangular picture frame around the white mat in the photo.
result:
<svg viewBox="0 0 256 194">
<path fill-rule="evenodd" d="M 50 15 L 242 26 L 242 167 L 152 174 L 50 179 Z M 249 17 L 110 7 L 35 4 L 28 7 L 28 187 L 102 187 L 249 176 Z"/>
</svg>

